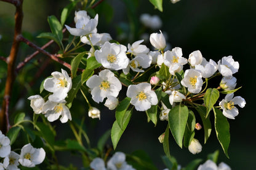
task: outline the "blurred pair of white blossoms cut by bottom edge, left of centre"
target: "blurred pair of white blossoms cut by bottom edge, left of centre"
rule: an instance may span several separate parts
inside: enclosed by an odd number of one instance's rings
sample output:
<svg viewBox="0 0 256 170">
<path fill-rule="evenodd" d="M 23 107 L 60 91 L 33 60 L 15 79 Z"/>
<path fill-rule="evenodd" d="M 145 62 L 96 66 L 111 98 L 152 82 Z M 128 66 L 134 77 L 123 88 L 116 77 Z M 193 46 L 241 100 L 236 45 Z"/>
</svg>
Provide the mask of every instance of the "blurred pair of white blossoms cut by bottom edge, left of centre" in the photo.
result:
<svg viewBox="0 0 256 170">
<path fill-rule="evenodd" d="M 94 160 L 92 160 L 90 163 L 90 168 L 94 170 L 135 170 L 130 164 L 127 164 L 126 155 L 122 152 L 114 153 L 114 155 L 106 163 L 106 168 L 105 162 L 102 160 L 102 158 L 94 158 Z"/>
</svg>

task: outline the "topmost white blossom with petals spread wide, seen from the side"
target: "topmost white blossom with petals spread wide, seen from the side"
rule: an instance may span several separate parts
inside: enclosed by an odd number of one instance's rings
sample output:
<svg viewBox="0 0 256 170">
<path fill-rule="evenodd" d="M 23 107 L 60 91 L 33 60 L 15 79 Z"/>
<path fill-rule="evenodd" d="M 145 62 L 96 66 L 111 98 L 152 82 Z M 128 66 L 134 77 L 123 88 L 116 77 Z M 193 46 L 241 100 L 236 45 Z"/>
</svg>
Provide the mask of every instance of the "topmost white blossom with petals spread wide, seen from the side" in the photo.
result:
<svg viewBox="0 0 256 170">
<path fill-rule="evenodd" d="M 81 17 L 76 22 L 76 28 L 71 28 L 68 25 L 66 29 L 73 36 L 86 36 L 90 33 L 97 33 L 97 25 L 98 25 L 98 14 L 95 15 L 94 19 L 90 19 L 89 17 Z"/>
</svg>

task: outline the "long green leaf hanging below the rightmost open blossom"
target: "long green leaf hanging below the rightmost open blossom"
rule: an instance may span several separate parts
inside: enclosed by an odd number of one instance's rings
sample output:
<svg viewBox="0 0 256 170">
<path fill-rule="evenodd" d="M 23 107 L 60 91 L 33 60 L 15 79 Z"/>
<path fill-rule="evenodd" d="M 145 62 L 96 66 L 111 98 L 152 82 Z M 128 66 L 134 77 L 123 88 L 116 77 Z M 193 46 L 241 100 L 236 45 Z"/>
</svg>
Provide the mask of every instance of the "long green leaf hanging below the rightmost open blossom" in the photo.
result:
<svg viewBox="0 0 256 170">
<path fill-rule="evenodd" d="M 226 117 L 222 114 L 222 111 L 214 107 L 214 115 L 215 115 L 215 131 L 217 134 L 218 141 L 220 145 L 222 145 L 222 149 L 226 155 L 228 156 L 228 147 L 230 145 L 230 123 Z"/>
</svg>

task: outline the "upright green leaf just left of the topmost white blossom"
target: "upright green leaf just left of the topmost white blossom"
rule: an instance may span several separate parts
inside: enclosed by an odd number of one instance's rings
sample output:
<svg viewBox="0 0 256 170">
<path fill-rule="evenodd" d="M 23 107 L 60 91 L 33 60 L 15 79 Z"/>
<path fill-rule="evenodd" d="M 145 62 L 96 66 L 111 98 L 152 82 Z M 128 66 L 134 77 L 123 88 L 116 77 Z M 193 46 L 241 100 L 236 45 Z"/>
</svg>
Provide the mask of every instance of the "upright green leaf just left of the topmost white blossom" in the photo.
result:
<svg viewBox="0 0 256 170">
<path fill-rule="evenodd" d="M 60 21 L 58 21 L 58 19 L 54 15 L 51 15 L 48 17 L 48 23 L 50 25 L 50 30 L 52 31 L 52 34 L 57 37 L 58 44 L 62 44 L 63 34 Z"/>
</svg>

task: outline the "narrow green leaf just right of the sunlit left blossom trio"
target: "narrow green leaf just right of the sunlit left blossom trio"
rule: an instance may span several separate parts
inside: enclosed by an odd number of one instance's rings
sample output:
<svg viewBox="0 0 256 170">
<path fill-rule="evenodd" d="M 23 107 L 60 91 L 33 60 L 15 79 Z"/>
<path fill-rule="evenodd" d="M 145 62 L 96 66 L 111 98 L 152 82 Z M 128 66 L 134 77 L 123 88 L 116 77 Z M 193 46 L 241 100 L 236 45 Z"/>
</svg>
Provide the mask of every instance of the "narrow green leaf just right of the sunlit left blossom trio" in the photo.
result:
<svg viewBox="0 0 256 170">
<path fill-rule="evenodd" d="M 73 99 L 78 93 L 79 88 L 81 87 L 81 75 L 78 75 L 74 79 L 72 79 L 72 88 L 68 92 L 68 98 L 66 99 L 66 106 L 70 108 L 72 106 Z"/>
</svg>

